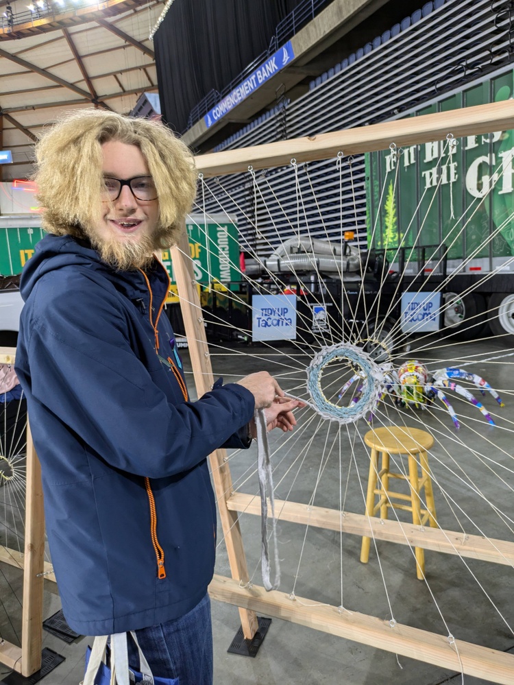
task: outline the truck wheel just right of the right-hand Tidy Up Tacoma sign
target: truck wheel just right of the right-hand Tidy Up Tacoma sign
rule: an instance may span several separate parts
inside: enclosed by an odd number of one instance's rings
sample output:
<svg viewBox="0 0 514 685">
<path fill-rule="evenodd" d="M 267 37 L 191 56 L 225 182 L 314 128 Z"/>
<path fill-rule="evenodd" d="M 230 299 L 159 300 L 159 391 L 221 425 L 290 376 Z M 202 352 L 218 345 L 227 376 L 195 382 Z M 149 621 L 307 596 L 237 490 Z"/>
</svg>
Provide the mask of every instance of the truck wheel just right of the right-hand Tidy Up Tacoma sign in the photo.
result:
<svg viewBox="0 0 514 685">
<path fill-rule="evenodd" d="M 487 322 L 485 299 L 479 293 L 445 293 L 443 324 L 458 340 L 474 340 Z"/>
</svg>

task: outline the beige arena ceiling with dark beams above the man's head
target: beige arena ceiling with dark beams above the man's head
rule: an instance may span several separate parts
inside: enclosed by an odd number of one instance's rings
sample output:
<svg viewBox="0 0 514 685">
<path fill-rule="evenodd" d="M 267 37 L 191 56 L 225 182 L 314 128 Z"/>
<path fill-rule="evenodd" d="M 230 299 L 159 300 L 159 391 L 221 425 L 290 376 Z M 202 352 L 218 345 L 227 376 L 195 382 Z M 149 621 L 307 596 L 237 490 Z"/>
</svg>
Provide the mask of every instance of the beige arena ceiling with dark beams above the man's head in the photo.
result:
<svg viewBox="0 0 514 685">
<path fill-rule="evenodd" d="M 4 181 L 29 176 L 34 141 L 64 110 L 127 114 L 158 89 L 149 35 L 162 0 L 39 0 L 32 10 L 29 3 L 0 0 L 0 149 L 13 158 L 0 165 Z"/>
</svg>

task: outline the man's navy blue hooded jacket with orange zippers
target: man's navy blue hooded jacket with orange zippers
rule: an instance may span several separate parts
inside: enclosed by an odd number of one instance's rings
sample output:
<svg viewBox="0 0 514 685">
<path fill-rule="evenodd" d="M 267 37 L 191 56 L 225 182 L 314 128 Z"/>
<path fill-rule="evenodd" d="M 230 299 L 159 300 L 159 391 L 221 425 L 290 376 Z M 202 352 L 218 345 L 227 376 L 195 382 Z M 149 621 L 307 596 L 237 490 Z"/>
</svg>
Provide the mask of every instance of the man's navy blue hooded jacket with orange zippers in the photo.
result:
<svg viewBox="0 0 514 685">
<path fill-rule="evenodd" d="M 21 278 L 16 372 L 64 615 L 83 635 L 169 621 L 204 596 L 216 546 L 206 457 L 247 446 L 254 411 L 233 383 L 186 400 L 165 313 L 154 331 L 169 280 L 158 262 L 146 276 L 49 235 Z"/>
</svg>

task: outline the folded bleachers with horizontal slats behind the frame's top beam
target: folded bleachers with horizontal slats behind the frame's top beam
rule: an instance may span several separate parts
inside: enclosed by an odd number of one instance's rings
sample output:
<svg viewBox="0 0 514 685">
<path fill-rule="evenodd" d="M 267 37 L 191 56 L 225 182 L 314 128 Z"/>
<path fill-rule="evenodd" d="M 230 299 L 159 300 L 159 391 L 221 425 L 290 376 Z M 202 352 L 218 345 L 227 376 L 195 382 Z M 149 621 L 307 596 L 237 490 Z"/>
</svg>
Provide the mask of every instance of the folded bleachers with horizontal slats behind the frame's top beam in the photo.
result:
<svg viewBox="0 0 514 685">
<path fill-rule="evenodd" d="M 493 11 L 497 5 L 491 9 L 491 0 L 446 0 L 444 5 L 435 1 L 433 7 L 424 21 L 411 23 L 393 37 L 387 32 L 378 47 L 363 51 L 356 60 L 345 60 L 339 71 L 291 102 L 286 108 L 287 135 L 315 136 L 394 119 L 431 104 L 436 108 L 436 100 L 445 100 L 442 88 L 448 91 L 447 97 L 455 98 L 453 91 L 463 91 L 478 67 L 480 73 L 473 83 L 487 83 L 487 73 L 498 74 L 495 87 L 509 84 L 512 92 L 511 26 L 501 23 L 498 27 L 498 13 Z M 462 75 L 462 69 L 455 73 L 456 65 L 462 64 L 469 64 L 469 76 Z M 487 88 L 493 98 L 493 84 L 489 82 Z M 467 95 L 458 97 L 463 97 L 462 104 L 470 104 Z M 232 141 L 222 143 L 223 148 L 276 141 L 276 119 L 273 115 L 243 128 L 231 136 Z M 297 234 L 339 241 L 344 230 L 353 230 L 356 242 L 366 248 L 369 188 L 364 156 L 354 155 L 351 164 L 343 159 L 339 166 L 336 160 L 328 160 L 305 167 L 299 170 L 298 180 L 291 168 L 280 167 L 260 172 L 256 181 L 249 173 L 240 173 L 208 179 L 206 184 L 213 195 L 219 194 L 221 185 L 224 209 L 236 217 L 241 243 L 262 256 Z M 259 188 L 257 203 L 254 183 Z M 304 197 L 299 215 L 298 188 Z M 206 211 L 219 211 L 217 200 L 208 193 Z"/>
</svg>

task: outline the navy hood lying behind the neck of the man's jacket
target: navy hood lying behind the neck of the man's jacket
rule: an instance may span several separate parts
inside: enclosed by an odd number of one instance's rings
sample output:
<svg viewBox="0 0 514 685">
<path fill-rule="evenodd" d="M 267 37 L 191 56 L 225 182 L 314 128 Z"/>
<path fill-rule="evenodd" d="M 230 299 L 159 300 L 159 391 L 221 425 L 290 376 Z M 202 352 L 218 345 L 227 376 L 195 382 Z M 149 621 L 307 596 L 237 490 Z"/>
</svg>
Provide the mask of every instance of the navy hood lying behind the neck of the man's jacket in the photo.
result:
<svg viewBox="0 0 514 685">
<path fill-rule="evenodd" d="M 69 235 L 45 235 L 36 244 L 33 256 L 23 267 L 20 282 L 23 300 L 27 301 L 42 276 L 57 269 L 68 267 L 90 269 L 98 276 L 110 280 L 114 287 L 129 300 L 138 300 L 138 298 L 147 296 L 148 289 L 143 274 L 138 270 L 114 271 L 110 265 L 101 260 L 98 252 L 91 247 L 88 240 Z M 168 280 L 165 269 L 157 260 L 150 265 L 147 273 L 153 274 L 159 285 L 162 284 L 162 287 L 167 290 Z"/>
</svg>

